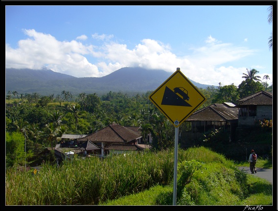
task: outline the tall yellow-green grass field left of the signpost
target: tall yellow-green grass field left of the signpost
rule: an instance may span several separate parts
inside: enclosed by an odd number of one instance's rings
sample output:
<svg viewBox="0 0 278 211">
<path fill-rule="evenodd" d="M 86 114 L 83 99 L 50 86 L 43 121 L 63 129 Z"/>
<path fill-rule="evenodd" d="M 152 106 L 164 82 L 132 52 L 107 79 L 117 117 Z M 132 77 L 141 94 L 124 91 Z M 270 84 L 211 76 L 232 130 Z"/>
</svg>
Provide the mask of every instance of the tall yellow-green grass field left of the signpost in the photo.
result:
<svg viewBox="0 0 278 211">
<path fill-rule="evenodd" d="M 7 205 L 97 205 L 169 184 L 173 159 L 167 151 L 121 154 L 105 159 L 73 157 L 60 167 L 49 163 L 37 174 L 6 170 Z"/>
</svg>

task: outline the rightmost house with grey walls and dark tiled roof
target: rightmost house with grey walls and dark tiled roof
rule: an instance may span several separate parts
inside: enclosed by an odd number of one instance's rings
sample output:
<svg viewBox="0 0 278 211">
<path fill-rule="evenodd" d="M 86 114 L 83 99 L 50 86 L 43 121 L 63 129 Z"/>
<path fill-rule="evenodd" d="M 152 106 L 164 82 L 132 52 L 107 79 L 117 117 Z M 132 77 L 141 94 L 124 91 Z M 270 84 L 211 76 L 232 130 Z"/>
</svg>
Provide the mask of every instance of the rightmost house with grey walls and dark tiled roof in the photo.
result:
<svg viewBox="0 0 278 211">
<path fill-rule="evenodd" d="M 255 127 L 259 120 L 272 119 L 272 92 L 259 91 L 237 101 L 238 127 Z"/>
</svg>

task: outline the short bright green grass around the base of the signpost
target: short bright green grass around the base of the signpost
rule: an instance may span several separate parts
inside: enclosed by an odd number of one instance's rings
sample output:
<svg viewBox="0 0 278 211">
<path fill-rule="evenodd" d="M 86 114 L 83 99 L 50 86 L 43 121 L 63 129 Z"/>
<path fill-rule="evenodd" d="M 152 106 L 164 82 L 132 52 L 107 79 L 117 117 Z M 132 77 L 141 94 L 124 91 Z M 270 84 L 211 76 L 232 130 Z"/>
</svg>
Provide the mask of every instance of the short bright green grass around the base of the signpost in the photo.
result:
<svg viewBox="0 0 278 211">
<path fill-rule="evenodd" d="M 272 205 L 272 185 L 267 180 L 246 174 L 246 183 L 238 183 L 232 169 L 219 164 L 205 169 L 195 172 L 177 205 Z M 157 185 L 100 205 L 173 205 L 173 184 Z"/>
</svg>

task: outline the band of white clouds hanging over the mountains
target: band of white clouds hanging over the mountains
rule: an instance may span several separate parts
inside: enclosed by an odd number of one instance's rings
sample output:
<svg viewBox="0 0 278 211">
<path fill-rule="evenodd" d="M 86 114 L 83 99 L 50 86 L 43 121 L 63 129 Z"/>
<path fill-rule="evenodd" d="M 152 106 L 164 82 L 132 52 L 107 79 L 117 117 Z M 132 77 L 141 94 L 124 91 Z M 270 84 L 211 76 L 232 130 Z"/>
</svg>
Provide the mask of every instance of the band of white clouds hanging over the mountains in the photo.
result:
<svg viewBox="0 0 278 211">
<path fill-rule="evenodd" d="M 75 77 L 102 77 L 126 66 L 163 69 L 168 72 L 175 72 L 180 67 L 187 78 L 201 84 L 238 85 L 243 81 L 242 74 L 249 67 L 225 66 L 225 63 L 243 59 L 255 52 L 231 43 L 221 43 L 211 36 L 203 46 L 189 49 L 192 54 L 178 57 L 171 52 L 168 44 L 151 39 L 143 39 L 133 49 L 128 49 L 126 44 L 116 42 L 93 46 L 75 40 L 57 41 L 53 36 L 34 29 L 24 30 L 24 33 L 28 39 L 19 41 L 18 48 L 13 49 L 6 44 L 7 68 L 40 69 L 46 66 Z M 107 41 L 113 35 L 95 33 L 92 37 Z M 76 39 L 85 38 L 85 35 L 81 35 Z M 261 77 L 266 75 L 263 71 L 259 73 Z M 267 75 L 272 82 L 272 75 Z"/>
</svg>

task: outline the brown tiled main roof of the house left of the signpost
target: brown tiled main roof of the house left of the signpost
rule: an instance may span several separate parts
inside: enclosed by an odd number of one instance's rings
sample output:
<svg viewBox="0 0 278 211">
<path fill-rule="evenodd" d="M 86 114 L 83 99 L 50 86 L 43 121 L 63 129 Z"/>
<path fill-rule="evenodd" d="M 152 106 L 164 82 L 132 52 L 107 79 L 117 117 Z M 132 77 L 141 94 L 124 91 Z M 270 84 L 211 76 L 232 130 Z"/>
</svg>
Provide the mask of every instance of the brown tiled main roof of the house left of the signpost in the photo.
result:
<svg viewBox="0 0 278 211">
<path fill-rule="evenodd" d="M 90 135 L 78 139 L 78 141 L 91 142 L 114 142 L 114 143 L 128 143 L 135 139 L 139 139 L 141 135 L 126 127 L 114 124 L 109 125 L 96 131 Z"/>
</svg>

